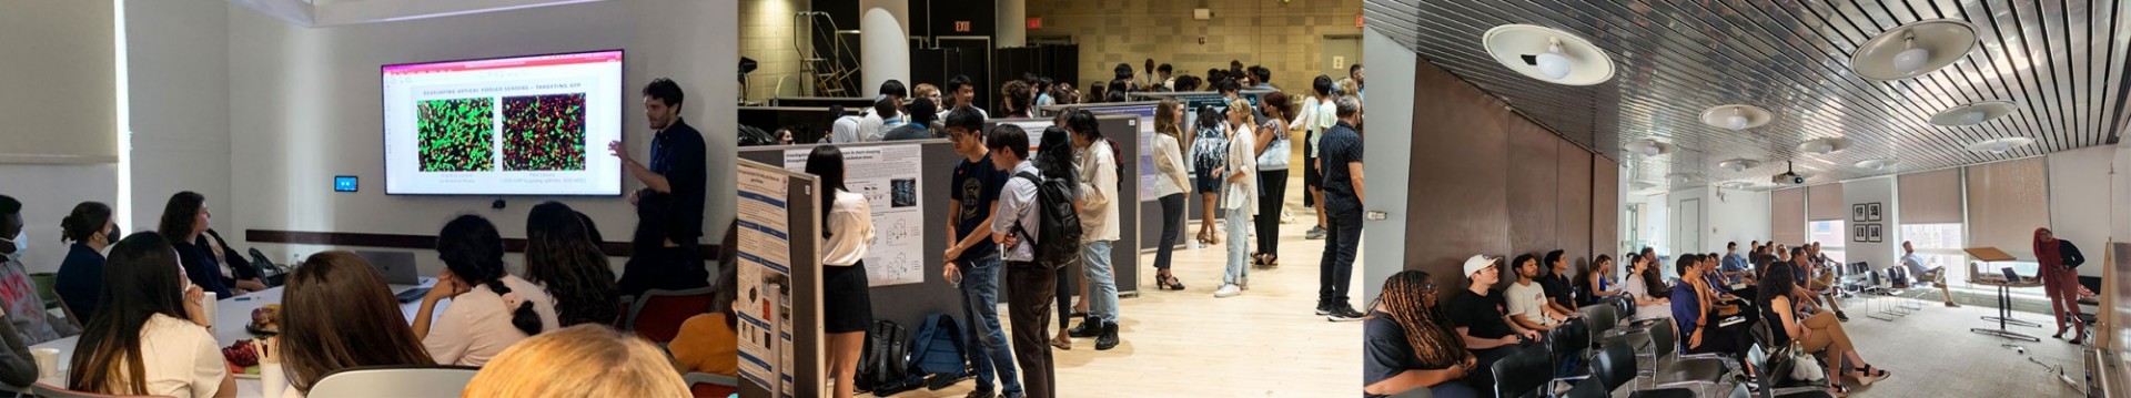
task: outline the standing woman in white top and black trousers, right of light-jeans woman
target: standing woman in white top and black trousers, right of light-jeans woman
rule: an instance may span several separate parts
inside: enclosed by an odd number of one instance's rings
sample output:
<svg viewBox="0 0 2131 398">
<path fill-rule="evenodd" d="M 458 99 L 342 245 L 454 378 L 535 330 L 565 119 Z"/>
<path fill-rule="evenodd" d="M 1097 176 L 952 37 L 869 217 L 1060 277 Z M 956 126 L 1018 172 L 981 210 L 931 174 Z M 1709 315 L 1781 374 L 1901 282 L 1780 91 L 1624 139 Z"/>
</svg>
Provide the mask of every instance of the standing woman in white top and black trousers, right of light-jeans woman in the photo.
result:
<svg viewBox="0 0 2131 398">
<path fill-rule="evenodd" d="M 1287 94 L 1272 92 L 1257 98 L 1259 106 L 1266 109 L 1266 119 L 1257 123 L 1257 136 L 1253 138 L 1257 151 L 1257 251 L 1251 253 L 1251 264 L 1257 266 L 1279 266 L 1281 264 L 1281 202 L 1287 202 L 1287 119 L 1291 102 Z"/>
</svg>

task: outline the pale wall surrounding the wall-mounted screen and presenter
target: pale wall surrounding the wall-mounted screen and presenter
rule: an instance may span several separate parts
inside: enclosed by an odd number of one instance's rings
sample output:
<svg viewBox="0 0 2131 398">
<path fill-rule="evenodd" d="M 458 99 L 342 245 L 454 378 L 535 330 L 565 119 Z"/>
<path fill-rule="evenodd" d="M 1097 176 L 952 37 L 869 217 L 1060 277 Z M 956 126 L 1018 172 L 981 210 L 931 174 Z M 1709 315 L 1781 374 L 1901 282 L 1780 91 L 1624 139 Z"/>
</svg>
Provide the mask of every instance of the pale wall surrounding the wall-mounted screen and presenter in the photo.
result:
<svg viewBox="0 0 2131 398">
<path fill-rule="evenodd" d="M 202 0 L 211 2 L 211 0 Z M 230 230 L 435 234 L 452 215 L 490 217 L 505 236 L 524 236 L 524 213 L 548 198 L 386 196 L 379 64 L 624 49 L 624 98 L 656 77 L 688 92 L 682 117 L 710 143 L 705 243 L 733 219 L 737 13 L 729 0 L 633 0 L 543 6 L 416 21 L 294 28 L 228 6 Z M 624 140 L 648 157 L 650 130 L 639 100 L 624 100 Z M 335 175 L 362 177 L 356 194 L 335 194 Z M 641 183 L 627 183 L 637 189 Z M 607 241 L 624 241 L 635 213 L 622 198 L 560 198 L 590 215 Z M 230 226 L 230 223 L 224 223 Z M 234 238 L 234 236 L 232 236 Z M 286 260 L 320 247 L 260 245 Z M 422 258 L 424 272 L 441 268 Z M 620 260 L 616 260 L 620 262 Z"/>
</svg>

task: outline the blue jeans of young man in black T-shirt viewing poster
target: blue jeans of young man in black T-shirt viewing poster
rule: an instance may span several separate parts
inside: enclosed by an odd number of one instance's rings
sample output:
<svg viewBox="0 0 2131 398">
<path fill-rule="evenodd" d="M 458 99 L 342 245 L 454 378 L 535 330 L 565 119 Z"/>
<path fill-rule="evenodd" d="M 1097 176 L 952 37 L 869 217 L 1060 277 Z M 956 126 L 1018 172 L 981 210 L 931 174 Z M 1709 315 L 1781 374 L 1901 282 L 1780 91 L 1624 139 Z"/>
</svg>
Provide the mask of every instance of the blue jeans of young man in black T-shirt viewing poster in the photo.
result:
<svg viewBox="0 0 2131 398">
<path fill-rule="evenodd" d="M 991 377 L 1006 381 L 999 396 L 1021 396 L 1014 375 L 1014 353 L 1006 351 L 1006 330 L 999 328 L 999 258 L 963 262 L 961 315 L 970 319 L 970 368 L 976 368 L 976 389 L 991 392 Z M 993 372 L 997 368 L 997 372 Z"/>
</svg>

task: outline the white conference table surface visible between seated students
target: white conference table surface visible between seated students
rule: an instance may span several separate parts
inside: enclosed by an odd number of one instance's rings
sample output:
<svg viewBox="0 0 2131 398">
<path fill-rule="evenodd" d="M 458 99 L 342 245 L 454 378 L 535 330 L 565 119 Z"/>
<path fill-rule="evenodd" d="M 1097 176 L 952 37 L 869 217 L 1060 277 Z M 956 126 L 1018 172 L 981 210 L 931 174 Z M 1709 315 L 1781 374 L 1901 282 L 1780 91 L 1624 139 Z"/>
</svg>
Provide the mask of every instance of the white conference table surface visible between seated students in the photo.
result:
<svg viewBox="0 0 2131 398">
<path fill-rule="evenodd" d="M 398 294 L 398 292 L 411 289 L 411 287 L 430 287 L 430 285 L 437 285 L 437 279 L 433 279 L 433 277 L 422 277 L 420 281 L 422 281 L 420 285 L 390 285 L 390 287 L 392 287 L 394 294 Z M 237 345 L 237 341 L 254 338 L 251 332 L 245 332 L 245 326 L 251 324 L 251 311 L 256 311 L 260 306 L 266 306 L 266 304 L 281 304 L 281 287 L 269 287 L 269 289 L 251 292 L 251 294 L 245 294 L 245 296 L 215 300 L 215 330 L 213 330 L 215 332 L 215 347 L 230 347 L 230 345 Z M 430 319 L 435 321 L 435 317 L 441 315 L 448 304 L 452 304 L 450 298 L 437 302 L 437 309 L 430 313 Z M 420 309 L 422 309 L 422 300 L 401 302 L 401 317 L 405 317 L 407 324 L 413 324 L 413 313 L 420 311 Z M 66 336 L 66 338 L 58 338 L 58 341 L 47 341 L 43 345 L 30 345 L 30 349 L 60 349 L 60 372 L 58 372 L 58 377 L 36 379 L 36 383 L 66 387 L 66 370 L 68 370 L 68 366 L 75 360 L 75 343 L 79 338 L 81 336 Z M 215 349 L 215 351 L 219 353 L 219 349 Z M 17 392 L 17 389 L 13 385 L 0 383 L 0 392 Z M 239 375 L 237 377 L 237 396 L 239 398 L 262 396 L 260 394 L 260 379 L 256 375 L 254 377 Z"/>
</svg>

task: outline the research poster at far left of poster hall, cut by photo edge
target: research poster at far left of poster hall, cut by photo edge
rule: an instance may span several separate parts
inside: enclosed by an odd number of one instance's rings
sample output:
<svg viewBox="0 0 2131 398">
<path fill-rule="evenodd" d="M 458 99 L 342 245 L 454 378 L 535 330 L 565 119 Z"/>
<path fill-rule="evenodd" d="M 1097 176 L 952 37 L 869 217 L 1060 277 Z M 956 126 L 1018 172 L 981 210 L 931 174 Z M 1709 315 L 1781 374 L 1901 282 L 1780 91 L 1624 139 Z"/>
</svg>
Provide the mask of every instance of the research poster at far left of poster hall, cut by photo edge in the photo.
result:
<svg viewBox="0 0 2131 398">
<path fill-rule="evenodd" d="M 782 394 L 791 372 L 791 226 L 786 177 L 776 168 L 739 166 L 739 377 Z M 780 311 L 782 309 L 782 311 Z"/>
</svg>

